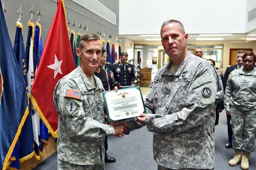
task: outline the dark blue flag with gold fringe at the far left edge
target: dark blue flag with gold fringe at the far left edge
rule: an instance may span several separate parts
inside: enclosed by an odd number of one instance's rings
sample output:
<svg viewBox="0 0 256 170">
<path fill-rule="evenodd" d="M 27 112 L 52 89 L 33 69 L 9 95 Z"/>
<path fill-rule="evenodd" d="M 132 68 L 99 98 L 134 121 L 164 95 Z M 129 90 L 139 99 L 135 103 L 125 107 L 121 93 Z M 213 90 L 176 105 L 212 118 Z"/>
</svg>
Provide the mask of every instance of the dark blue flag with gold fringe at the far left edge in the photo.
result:
<svg viewBox="0 0 256 170">
<path fill-rule="evenodd" d="M 6 169 L 28 111 L 26 84 L 15 59 L 2 5 L 0 29 L 0 167 Z"/>
</svg>

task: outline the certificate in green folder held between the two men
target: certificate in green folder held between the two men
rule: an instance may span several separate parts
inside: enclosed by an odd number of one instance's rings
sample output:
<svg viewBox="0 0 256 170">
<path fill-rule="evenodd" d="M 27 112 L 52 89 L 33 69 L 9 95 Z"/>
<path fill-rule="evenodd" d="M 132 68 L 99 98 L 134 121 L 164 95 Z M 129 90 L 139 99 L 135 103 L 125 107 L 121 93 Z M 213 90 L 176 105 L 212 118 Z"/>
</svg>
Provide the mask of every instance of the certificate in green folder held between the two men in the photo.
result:
<svg viewBox="0 0 256 170">
<path fill-rule="evenodd" d="M 108 121 L 138 117 L 146 113 L 140 86 L 103 92 Z"/>
</svg>

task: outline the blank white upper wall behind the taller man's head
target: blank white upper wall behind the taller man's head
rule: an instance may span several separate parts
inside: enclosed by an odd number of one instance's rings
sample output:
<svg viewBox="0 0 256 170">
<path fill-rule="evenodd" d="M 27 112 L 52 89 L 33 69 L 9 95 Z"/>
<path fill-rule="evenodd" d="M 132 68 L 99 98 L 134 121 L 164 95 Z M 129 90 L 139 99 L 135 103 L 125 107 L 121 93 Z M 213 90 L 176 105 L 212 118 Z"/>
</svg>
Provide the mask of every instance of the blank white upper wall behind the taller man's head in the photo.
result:
<svg viewBox="0 0 256 170">
<path fill-rule="evenodd" d="M 246 0 L 121 0 L 119 34 L 159 34 L 169 19 L 189 34 L 244 33 L 245 8 Z"/>
</svg>

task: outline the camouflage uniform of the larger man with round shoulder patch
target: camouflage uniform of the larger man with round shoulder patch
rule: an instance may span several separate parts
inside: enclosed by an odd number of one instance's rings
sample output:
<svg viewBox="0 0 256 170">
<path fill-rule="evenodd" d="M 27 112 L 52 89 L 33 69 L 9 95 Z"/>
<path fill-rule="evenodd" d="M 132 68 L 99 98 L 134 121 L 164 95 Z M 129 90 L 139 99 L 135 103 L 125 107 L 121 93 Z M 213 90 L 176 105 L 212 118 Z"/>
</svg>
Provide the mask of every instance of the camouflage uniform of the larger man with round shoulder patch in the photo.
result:
<svg viewBox="0 0 256 170">
<path fill-rule="evenodd" d="M 206 60 L 190 52 L 170 73 L 159 69 L 146 98 L 146 125 L 153 133 L 157 164 L 170 169 L 214 168 L 215 107 L 223 98 L 219 74 Z M 128 129 L 140 127 L 128 122 Z"/>
</svg>

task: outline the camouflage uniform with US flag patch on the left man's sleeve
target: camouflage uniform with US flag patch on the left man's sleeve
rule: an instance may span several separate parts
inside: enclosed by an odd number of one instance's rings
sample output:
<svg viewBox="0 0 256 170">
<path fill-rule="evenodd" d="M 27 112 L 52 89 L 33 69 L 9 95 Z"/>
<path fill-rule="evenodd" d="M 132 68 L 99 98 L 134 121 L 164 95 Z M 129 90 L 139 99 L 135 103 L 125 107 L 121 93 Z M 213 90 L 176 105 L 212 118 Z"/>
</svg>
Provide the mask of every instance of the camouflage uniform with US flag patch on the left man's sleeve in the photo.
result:
<svg viewBox="0 0 256 170">
<path fill-rule="evenodd" d="M 75 165 L 103 162 L 104 138 L 113 126 L 104 124 L 103 85 L 93 75 L 91 84 L 80 66 L 60 79 L 53 101 L 59 116 L 58 159 Z"/>
</svg>

